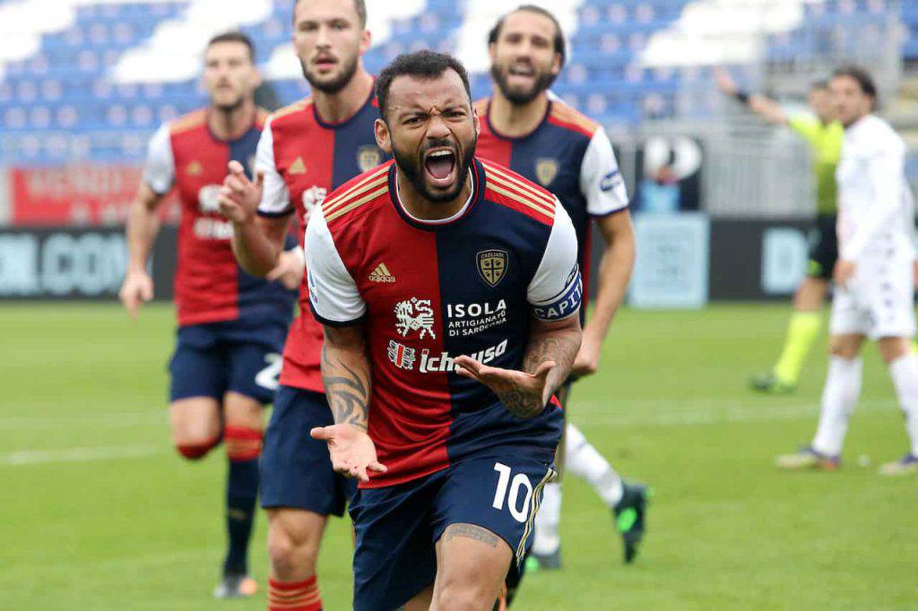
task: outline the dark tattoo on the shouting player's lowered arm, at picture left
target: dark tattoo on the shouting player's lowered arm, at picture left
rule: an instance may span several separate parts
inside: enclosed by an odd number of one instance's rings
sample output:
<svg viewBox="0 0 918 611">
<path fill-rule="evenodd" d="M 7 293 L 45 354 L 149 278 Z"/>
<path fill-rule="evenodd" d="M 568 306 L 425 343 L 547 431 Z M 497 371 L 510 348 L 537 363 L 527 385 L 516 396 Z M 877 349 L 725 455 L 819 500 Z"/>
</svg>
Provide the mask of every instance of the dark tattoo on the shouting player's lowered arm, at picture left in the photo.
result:
<svg viewBox="0 0 918 611">
<path fill-rule="evenodd" d="M 322 346 L 322 382 L 329 400 L 335 424 L 349 424 L 366 430 L 370 415 L 370 380 L 364 362 L 349 366 L 341 357 L 343 352 L 335 334 L 326 332 Z"/>
</svg>

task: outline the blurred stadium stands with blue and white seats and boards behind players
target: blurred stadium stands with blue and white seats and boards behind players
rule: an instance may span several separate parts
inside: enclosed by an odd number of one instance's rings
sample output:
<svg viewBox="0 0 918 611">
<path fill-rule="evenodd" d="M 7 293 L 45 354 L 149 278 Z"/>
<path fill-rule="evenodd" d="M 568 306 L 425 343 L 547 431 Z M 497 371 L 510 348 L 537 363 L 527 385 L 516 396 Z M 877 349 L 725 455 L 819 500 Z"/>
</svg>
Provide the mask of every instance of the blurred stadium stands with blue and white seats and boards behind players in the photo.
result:
<svg viewBox="0 0 918 611">
<path fill-rule="evenodd" d="M 476 97 L 487 95 L 487 30 L 518 4 L 368 0 L 374 45 L 365 62 L 378 72 L 401 52 L 452 52 L 473 73 Z M 651 252 L 644 262 L 656 274 L 648 280 L 652 292 L 682 283 L 677 291 L 694 290 L 695 302 L 709 296 L 777 298 L 789 294 L 803 273 L 803 228 L 815 210 L 807 149 L 789 130 L 767 127 L 724 96 L 714 84 L 718 66 L 749 91 L 800 110 L 809 85 L 840 63 L 868 67 L 879 83 L 881 114 L 912 147 L 908 176 L 918 182 L 918 2 L 535 4 L 552 10 L 568 37 L 569 59 L 553 91 L 608 130 L 633 210 L 678 213 L 644 223 L 650 241 L 642 248 Z M 218 32 L 240 29 L 254 40 L 266 79 L 259 92 L 262 106 L 283 106 L 308 94 L 290 42 L 292 5 L 291 0 L 0 0 L 0 227 L 6 232 L 0 234 L 0 261 L 5 252 L 7 261 L 0 264 L 0 297 L 40 297 L 49 284 L 57 287 L 57 296 L 114 294 L 118 262 L 101 261 L 104 253 L 116 257 L 120 245 L 106 246 L 106 239 L 117 239 L 114 233 L 91 239 L 88 262 L 81 263 L 79 254 L 71 261 L 55 259 L 57 250 L 48 253 L 47 240 L 54 236 L 47 232 L 37 230 L 26 239 L 15 230 L 118 228 L 140 180 L 151 133 L 206 104 L 198 84 L 201 58 L 207 39 Z M 175 202 L 165 206 L 167 221 L 177 214 Z M 689 229 L 666 225 L 680 216 Z M 690 244 L 687 232 L 696 236 Z M 66 235 L 71 241 L 58 239 L 56 248 L 70 252 L 80 237 Z M 663 235 L 668 238 L 655 240 Z M 715 259 L 721 251 L 738 251 L 732 262 L 748 263 L 752 280 L 737 277 L 728 279 L 730 286 L 717 285 L 722 279 L 714 278 Z M 12 271 L 14 252 L 34 273 Z M 664 260 L 678 253 L 703 264 L 696 271 L 685 261 L 666 269 Z M 69 281 L 54 276 L 67 270 Z M 93 274 L 88 292 L 78 286 Z M 697 290 L 686 283 L 697 284 Z"/>
</svg>

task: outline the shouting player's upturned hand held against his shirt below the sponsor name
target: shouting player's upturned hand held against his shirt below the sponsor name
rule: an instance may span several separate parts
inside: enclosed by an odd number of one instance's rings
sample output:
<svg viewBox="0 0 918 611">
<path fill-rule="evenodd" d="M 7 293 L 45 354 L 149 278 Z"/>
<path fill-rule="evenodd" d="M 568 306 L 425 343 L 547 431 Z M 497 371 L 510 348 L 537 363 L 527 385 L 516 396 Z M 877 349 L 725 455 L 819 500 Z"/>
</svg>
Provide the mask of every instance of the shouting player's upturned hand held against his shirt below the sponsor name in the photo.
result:
<svg viewBox="0 0 918 611">
<path fill-rule="evenodd" d="M 548 388 L 548 373 L 552 371 L 554 361 L 544 361 L 534 373 L 488 367 L 467 356 L 456 357 L 455 364 L 459 366 L 456 370 L 459 375 L 485 384 L 517 417 L 538 416 L 552 396 Z"/>
</svg>

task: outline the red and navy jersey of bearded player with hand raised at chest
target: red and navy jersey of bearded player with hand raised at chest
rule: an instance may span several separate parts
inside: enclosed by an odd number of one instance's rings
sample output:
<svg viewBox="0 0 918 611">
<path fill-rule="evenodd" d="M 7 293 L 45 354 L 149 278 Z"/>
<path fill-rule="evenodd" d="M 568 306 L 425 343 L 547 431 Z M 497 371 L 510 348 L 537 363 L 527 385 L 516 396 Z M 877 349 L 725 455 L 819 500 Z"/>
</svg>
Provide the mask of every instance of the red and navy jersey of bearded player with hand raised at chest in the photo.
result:
<svg viewBox="0 0 918 611">
<path fill-rule="evenodd" d="M 386 160 L 374 136 L 378 117 L 373 94 L 353 117 L 341 123 L 323 121 L 311 97 L 276 111 L 268 118 L 258 145 L 255 164 L 264 172 L 258 213 L 283 217 L 296 212 L 297 235 L 303 236 L 305 219 L 326 195 Z M 308 298 L 304 285 L 299 317 L 287 335 L 280 383 L 321 393 L 322 327 L 309 311 Z"/>
</svg>

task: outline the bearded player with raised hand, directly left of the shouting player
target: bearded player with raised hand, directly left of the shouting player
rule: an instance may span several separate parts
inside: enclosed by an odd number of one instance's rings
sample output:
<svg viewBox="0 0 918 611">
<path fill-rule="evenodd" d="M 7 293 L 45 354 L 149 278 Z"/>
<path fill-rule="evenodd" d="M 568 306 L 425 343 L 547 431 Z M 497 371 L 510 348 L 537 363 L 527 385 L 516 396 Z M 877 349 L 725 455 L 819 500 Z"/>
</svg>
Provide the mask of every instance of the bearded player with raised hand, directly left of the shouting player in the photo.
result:
<svg viewBox="0 0 918 611">
<path fill-rule="evenodd" d="M 237 257 L 253 273 L 274 266 L 294 212 L 302 236 L 310 211 L 327 193 L 384 161 L 373 133 L 374 80 L 362 61 L 370 46 L 365 24 L 363 0 L 299 0 L 294 8 L 294 44 L 312 95 L 269 118 L 258 147 L 258 179 L 250 183 L 234 165 L 220 198 L 233 220 Z M 309 438 L 311 428 L 332 419 L 319 374 L 322 329 L 307 300 L 304 285 L 262 461 L 269 609 L 285 611 L 320 608 L 319 540 L 327 517 L 341 516 L 353 494 L 353 483 L 332 472 L 325 444 Z"/>
</svg>

